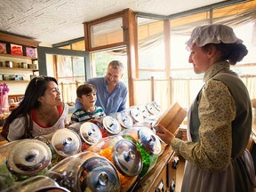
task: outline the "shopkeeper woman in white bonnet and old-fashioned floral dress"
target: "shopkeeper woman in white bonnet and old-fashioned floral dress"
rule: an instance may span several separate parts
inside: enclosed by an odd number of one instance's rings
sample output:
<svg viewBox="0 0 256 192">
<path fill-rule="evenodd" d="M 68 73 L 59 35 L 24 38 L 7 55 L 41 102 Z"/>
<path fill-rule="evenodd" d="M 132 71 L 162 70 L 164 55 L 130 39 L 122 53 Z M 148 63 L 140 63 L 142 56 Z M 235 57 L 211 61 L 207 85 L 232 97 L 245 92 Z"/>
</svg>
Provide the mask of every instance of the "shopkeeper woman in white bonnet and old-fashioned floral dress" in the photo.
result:
<svg viewBox="0 0 256 192">
<path fill-rule="evenodd" d="M 159 125 L 156 134 L 186 159 L 182 192 L 254 191 L 255 172 L 246 149 L 252 132 L 249 93 L 230 65 L 247 49 L 232 28 L 212 24 L 192 31 L 188 40 L 196 74 L 204 86 L 188 111 L 188 141 Z"/>
</svg>

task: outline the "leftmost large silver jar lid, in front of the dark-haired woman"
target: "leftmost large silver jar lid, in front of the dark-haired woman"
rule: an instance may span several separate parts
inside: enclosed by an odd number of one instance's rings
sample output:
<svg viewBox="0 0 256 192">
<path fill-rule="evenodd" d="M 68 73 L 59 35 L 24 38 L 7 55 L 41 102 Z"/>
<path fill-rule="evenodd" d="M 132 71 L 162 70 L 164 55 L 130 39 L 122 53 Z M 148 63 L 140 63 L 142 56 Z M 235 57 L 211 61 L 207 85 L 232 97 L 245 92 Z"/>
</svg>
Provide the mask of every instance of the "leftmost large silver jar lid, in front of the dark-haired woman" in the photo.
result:
<svg viewBox="0 0 256 192">
<path fill-rule="evenodd" d="M 34 175 L 51 163 L 51 149 L 40 140 L 22 140 L 13 146 L 7 157 L 7 167 L 20 175 Z"/>
</svg>

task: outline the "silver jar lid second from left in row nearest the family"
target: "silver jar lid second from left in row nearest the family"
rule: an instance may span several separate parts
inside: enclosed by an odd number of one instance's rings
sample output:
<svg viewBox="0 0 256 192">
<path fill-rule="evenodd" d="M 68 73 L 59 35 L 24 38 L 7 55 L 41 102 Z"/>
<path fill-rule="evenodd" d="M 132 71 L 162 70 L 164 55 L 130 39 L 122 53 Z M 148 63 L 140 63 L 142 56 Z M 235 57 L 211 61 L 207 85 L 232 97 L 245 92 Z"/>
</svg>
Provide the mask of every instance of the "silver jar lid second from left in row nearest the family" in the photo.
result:
<svg viewBox="0 0 256 192">
<path fill-rule="evenodd" d="M 76 132 L 63 128 L 54 132 L 51 145 L 60 156 L 66 157 L 79 153 L 82 143 Z"/>
</svg>

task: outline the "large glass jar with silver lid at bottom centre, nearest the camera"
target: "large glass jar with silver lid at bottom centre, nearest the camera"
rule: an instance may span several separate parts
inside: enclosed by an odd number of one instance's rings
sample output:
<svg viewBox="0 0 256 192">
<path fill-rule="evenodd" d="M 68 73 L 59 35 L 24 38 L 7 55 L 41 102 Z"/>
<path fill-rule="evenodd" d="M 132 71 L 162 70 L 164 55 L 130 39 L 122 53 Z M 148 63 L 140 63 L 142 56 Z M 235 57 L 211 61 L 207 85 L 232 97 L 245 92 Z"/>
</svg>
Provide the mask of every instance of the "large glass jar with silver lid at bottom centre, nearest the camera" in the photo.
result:
<svg viewBox="0 0 256 192">
<path fill-rule="evenodd" d="M 115 166 L 107 158 L 89 151 L 61 160 L 46 176 L 70 191 L 120 191 Z"/>
</svg>

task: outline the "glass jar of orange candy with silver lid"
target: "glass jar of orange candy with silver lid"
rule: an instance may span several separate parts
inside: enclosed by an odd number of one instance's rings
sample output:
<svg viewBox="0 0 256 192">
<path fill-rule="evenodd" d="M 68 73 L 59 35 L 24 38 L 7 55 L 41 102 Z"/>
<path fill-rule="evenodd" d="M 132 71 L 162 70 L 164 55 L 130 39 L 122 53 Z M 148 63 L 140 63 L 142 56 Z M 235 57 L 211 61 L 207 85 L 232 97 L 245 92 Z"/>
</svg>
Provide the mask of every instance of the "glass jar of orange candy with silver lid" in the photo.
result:
<svg viewBox="0 0 256 192">
<path fill-rule="evenodd" d="M 139 149 L 131 140 L 125 140 L 122 136 L 115 135 L 103 138 L 88 148 L 88 151 L 104 156 L 112 164 L 115 164 L 121 181 L 121 191 L 128 191 L 142 170 L 142 158 Z"/>
</svg>

